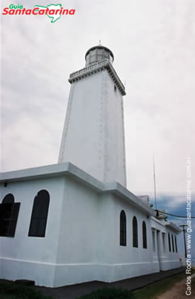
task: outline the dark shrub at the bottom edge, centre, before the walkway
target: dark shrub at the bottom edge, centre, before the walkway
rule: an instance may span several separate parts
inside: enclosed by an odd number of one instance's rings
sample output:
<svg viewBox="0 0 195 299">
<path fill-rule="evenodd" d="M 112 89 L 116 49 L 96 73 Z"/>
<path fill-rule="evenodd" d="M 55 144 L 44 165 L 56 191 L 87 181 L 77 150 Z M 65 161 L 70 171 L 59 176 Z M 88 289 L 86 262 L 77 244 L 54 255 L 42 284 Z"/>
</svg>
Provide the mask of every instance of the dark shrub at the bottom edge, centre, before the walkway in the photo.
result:
<svg viewBox="0 0 195 299">
<path fill-rule="evenodd" d="M 134 299 L 130 290 L 121 290 L 120 288 L 102 288 L 95 290 L 89 295 L 81 296 L 77 299 Z"/>
</svg>

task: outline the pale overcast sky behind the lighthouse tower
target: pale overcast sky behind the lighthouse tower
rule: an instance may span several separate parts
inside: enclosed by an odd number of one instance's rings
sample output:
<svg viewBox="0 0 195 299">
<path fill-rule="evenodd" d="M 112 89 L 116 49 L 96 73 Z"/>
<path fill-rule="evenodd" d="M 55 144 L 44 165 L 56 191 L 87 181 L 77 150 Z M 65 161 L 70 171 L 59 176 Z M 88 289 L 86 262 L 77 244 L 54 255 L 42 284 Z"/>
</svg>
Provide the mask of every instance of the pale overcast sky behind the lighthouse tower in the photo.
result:
<svg viewBox="0 0 195 299">
<path fill-rule="evenodd" d="M 1 9 L 11 3 L 48 5 L 3 0 Z M 195 176 L 195 1 L 58 3 L 76 14 L 55 23 L 1 16 L 1 170 L 57 163 L 69 73 L 84 67 L 86 51 L 101 40 L 126 84 L 128 189 L 153 196 L 155 154 L 159 201 L 185 208 L 187 157 Z"/>
</svg>

